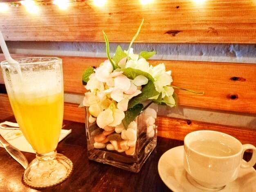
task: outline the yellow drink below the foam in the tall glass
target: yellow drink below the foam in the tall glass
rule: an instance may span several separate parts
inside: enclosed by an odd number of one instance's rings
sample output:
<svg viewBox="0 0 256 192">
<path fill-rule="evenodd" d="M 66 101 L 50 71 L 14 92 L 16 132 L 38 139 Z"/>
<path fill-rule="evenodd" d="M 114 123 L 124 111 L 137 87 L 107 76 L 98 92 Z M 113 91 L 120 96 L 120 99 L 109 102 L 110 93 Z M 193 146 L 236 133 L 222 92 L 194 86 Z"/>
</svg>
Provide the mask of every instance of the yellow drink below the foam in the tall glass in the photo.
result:
<svg viewBox="0 0 256 192">
<path fill-rule="evenodd" d="M 50 96 L 12 98 L 10 102 L 20 129 L 40 154 L 55 150 L 63 119 L 63 93 Z"/>
</svg>

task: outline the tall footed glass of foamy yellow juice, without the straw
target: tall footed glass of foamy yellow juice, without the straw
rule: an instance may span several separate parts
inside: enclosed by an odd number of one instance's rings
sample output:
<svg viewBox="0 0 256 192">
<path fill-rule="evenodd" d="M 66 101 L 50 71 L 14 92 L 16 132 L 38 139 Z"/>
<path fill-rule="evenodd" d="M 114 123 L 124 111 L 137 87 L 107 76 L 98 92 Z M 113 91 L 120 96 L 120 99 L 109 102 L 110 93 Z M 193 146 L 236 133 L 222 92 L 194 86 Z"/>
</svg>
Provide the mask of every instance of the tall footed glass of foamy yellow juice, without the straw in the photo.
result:
<svg viewBox="0 0 256 192">
<path fill-rule="evenodd" d="M 50 187 L 64 181 L 73 168 L 70 159 L 56 152 L 63 122 L 62 60 L 33 57 L 17 61 L 3 61 L 1 69 L 17 123 L 36 152 L 23 181 L 34 188 Z"/>
</svg>

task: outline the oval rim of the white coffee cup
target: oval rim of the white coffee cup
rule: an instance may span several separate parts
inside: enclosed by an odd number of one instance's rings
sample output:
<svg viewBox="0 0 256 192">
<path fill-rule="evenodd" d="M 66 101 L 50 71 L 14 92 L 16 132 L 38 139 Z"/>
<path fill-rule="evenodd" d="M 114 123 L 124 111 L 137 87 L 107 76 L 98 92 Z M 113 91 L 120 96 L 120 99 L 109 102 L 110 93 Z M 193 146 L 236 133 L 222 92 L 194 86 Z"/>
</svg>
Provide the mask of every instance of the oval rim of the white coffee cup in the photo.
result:
<svg viewBox="0 0 256 192">
<path fill-rule="evenodd" d="M 207 154 L 203 154 L 203 153 L 201 153 L 201 152 L 198 152 L 198 151 L 194 150 L 193 148 L 191 148 L 191 147 L 189 146 L 189 144 L 185 141 L 186 139 L 188 139 L 188 136 L 189 136 L 190 134 L 196 133 L 196 132 L 212 132 L 212 133 L 214 132 L 214 133 L 218 133 L 218 134 L 224 134 L 224 135 L 226 135 L 226 136 L 231 137 L 232 139 L 234 139 L 234 140 L 236 141 L 236 143 L 238 143 L 238 145 L 240 145 L 240 150 L 239 150 L 238 152 L 236 152 L 236 154 L 234 154 L 234 155 L 229 155 L 229 156 L 213 156 L 213 155 L 207 155 Z M 199 154 L 199 155 L 204 156 L 204 157 L 215 158 L 215 159 L 227 159 L 227 158 L 232 158 L 232 157 L 234 157 L 234 156 L 240 155 L 240 154 L 243 152 L 243 145 L 242 145 L 242 143 L 241 143 L 237 138 L 235 138 L 235 137 L 233 137 L 233 136 L 231 136 L 231 135 L 229 135 L 229 134 L 223 133 L 223 132 L 212 131 L 212 130 L 198 130 L 198 131 L 190 132 L 189 134 L 187 134 L 187 135 L 184 137 L 184 147 L 185 147 L 185 145 L 186 145 L 187 148 L 189 148 L 189 150 L 193 151 L 193 152 L 196 153 L 196 154 Z"/>
</svg>

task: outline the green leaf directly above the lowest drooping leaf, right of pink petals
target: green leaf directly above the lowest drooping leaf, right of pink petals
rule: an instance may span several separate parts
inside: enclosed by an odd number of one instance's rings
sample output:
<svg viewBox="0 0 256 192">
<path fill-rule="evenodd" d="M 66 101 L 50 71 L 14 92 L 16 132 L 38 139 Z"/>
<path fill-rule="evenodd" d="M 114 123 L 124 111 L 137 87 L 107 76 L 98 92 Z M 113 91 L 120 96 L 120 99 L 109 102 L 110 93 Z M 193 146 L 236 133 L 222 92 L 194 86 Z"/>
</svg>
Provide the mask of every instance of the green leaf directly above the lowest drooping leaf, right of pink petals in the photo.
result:
<svg viewBox="0 0 256 192">
<path fill-rule="evenodd" d="M 142 87 L 141 92 L 141 94 L 137 95 L 129 101 L 128 108 L 133 107 L 145 100 L 148 100 L 148 98 L 157 96 L 159 94 L 159 92 L 155 90 L 155 85 L 152 81 L 148 81 L 148 83 Z"/>
</svg>

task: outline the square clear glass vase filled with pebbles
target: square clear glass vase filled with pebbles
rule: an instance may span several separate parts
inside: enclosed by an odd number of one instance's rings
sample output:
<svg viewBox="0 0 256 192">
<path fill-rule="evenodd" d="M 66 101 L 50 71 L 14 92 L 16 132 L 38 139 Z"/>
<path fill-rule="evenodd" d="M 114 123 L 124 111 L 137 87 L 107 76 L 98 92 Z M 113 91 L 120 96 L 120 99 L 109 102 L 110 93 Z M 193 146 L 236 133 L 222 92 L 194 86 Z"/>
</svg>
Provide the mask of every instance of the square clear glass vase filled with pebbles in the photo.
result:
<svg viewBox="0 0 256 192">
<path fill-rule="evenodd" d="M 88 158 L 131 172 L 139 172 L 157 145 L 157 109 L 155 103 L 146 105 L 127 129 L 122 123 L 102 129 L 86 107 Z"/>
</svg>

